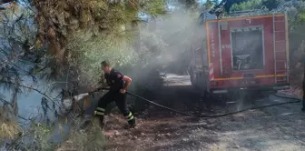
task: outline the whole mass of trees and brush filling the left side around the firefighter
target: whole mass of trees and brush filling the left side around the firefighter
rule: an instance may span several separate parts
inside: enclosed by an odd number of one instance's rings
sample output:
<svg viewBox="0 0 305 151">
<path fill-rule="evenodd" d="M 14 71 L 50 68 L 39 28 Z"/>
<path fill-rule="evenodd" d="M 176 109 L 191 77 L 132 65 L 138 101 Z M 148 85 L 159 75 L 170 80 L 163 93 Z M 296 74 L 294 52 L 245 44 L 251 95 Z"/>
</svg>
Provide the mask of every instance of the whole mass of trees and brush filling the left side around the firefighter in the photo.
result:
<svg viewBox="0 0 305 151">
<path fill-rule="evenodd" d="M 125 71 L 131 70 L 133 66 L 139 70 L 145 68 L 150 71 L 157 66 L 148 66 L 153 62 L 150 60 L 152 54 L 160 55 L 164 49 L 156 33 L 148 32 L 145 25 L 142 25 L 144 21 L 138 17 L 139 13 L 151 18 L 165 15 L 167 5 L 162 0 L 141 2 L 21 0 L 4 3 L 1 16 L 3 23 L 1 41 L 7 45 L 3 45 L 1 49 L 3 67 L 0 84 L 5 86 L 4 94 L 12 92 L 13 99 L 8 101 L 5 97 L 1 98 L 5 107 L 2 110 L 4 114 L 1 114 L 3 119 L 1 134 L 10 138 L 2 139 L 4 141 L 2 143 L 10 148 L 25 149 L 29 146 L 38 150 L 52 148 L 54 146 L 48 140 L 55 124 L 61 125 L 65 123 L 64 119 L 72 120 L 75 117 L 60 115 L 62 114 L 59 112 L 61 109 L 58 109 L 62 107 L 60 100 L 46 95 L 50 92 L 44 92 L 44 87 L 38 88 L 41 85 L 40 81 L 64 83 L 69 88 L 72 86 L 69 83 L 73 81 L 77 81 L 82 86 L 93 86 L 102 74 L 99 70 L 99 63 L 102 60 L 109 59 L 116 68 Z M 195 3 L 182 5 L 195 5 Z M 142 38 L 153 38 L 155 44 L 151 45 L 147 43 L 148 41 L 136 43 L 140 30 L 144 31 L 141 32 Z M 153 74 L 159 76 L 157 72 Z M 134 76 L 143 79 L 134 84 L 135 90 L 143 90 L 142 87 L 146 83 L 140 81 L 145 81 L 147 76 L 152 74 Z M 29 82 L 29 77 L 33 82 Z M 44 96 L 42 99 L 44 116 L 31 119 L 19 116 L 25 121 L 31 120 L 34 123 L 30 128 L 25 129 L 21 128 L 16 120 L 17 95 L 30 91 L 36 91 Z M 53 107 L 49 103 L 53 103 Z M 44 118 L 49 110 L 60 120 L 55 120 L 51 125 L 46 123 L 44 126 L 43 123 L 50 120 Z M 2 116 L 8 114 L 10 116 Z M 78 123 L 72 121 L 74 124 Z M 32 143 L 25 143 L 23 141 L 25 137 Z"/>
</svg>

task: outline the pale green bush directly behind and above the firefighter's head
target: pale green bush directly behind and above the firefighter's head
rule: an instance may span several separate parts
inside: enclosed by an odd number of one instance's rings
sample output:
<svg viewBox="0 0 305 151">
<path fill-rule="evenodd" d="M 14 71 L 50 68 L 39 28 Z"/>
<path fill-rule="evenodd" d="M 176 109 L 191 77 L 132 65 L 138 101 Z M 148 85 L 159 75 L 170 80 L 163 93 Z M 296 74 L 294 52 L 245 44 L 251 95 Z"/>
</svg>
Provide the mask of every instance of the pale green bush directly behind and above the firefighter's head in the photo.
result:
<svg viewBox="0 0 305 151">
<path fill-rule="evenodd" d="M 74 65 L 77 65 L 81 72 L 80 82 L 83 84 L 97 84 L 102 74 L 100 63 L 103 60 L 109 60 L 116 68 L 133 65 L 137 61 L 133 45 L 127 38 L 121 37 L 118 41 L 103 36 L 85 39 L 84 35 L 74 34 L 74 37 L 69 38 L 67 45 L 72 54 L 82 56 L 74 61 Z"/>
</svg>

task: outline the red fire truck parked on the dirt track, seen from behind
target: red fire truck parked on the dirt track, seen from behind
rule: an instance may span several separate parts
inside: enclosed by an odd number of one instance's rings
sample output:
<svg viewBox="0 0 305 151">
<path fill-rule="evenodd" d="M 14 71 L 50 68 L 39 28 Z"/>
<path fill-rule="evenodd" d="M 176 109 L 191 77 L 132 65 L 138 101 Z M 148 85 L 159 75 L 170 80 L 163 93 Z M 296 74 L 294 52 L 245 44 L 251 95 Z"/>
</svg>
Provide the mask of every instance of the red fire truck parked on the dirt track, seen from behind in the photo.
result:
<svg viewBox="0 0 305 151">
<path fill-rule="evenodd" d="M 285 13 L 206 18 L 192 39 L 192 86 L 212 94 L 290 87 Z"/>
</svg>

